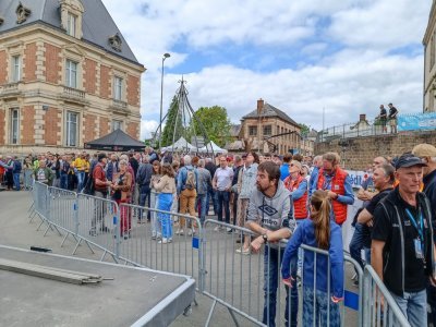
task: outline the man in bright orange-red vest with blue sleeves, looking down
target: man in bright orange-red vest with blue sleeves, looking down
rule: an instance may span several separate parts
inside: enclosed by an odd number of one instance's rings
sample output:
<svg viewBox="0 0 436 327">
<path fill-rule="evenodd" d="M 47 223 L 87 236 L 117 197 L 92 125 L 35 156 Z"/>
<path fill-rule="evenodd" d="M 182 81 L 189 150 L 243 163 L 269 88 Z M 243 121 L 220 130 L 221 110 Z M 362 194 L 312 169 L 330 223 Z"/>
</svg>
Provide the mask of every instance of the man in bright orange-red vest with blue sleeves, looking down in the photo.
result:
<svg viewBox="0 0 436 327">
<path fill-rule="evenodd" d="M 339 162 L 340 157 L 337 153 L 327 153 L 323 156 L 323 168 L 319 169 L 315 190 L 328 191 L 331 199 L 330 218 L 342 226 L 347 220 L 347 206 L 354 203 L 354 193 L 351 178 L 339 167 Z"/>
</svg>

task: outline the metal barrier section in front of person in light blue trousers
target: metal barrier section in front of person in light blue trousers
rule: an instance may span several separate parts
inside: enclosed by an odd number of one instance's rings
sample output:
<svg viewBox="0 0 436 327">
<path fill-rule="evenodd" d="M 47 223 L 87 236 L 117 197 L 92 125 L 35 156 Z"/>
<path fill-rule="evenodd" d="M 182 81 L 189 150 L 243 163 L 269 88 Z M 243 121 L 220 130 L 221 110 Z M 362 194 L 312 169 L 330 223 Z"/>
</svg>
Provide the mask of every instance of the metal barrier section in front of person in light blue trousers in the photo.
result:
<svg viewBox="0 0 436 327">
<path fill-rule="evenodd" d="M 150 221 L 146 219 L 148 211 L 152 213 Z M 164 215 L 168 215 L 172 232 L 162 238 Z M 184 228 L 181 228 L 182 219 L 186 220 Z M 122 203 L 120 226 L 120 259 L 152 269 L 192 276 L 198 289 L 202 289 L 203 228 L 198 218 Z"/>
</svg>

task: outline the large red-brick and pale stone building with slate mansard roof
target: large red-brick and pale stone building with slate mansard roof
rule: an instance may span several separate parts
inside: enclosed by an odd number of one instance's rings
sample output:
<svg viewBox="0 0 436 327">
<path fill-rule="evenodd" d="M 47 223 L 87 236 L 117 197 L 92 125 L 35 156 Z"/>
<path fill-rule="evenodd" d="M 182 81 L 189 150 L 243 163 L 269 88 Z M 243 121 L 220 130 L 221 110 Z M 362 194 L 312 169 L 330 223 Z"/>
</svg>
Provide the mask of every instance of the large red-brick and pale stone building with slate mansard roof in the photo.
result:
<svg viewBox="0 0 436 327">
<path fill-rule="evenodd" d="M 100 0 L 1 0 L 0 153 L 138 138 L 144 71 Z"/>
</svg>

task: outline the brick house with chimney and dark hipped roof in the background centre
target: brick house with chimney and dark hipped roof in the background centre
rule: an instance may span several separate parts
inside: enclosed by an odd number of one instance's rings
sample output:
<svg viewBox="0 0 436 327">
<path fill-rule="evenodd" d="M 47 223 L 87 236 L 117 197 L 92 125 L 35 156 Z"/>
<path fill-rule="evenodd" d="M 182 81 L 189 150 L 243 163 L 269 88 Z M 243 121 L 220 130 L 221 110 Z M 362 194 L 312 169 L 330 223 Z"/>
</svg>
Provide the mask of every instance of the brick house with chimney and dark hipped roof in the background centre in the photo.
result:
<svg viewBox="0 0 436 327">
<path fill-rule="evenodd" d="M 282 133 L 290 134 L 276 136 Z M 300 134 L 300 125 L 293 119 L 263 99 L 257 100 L 256 110 L 241 120 L 240 136 L 246 150 L 267 153 L 275 148 L 275 153 L 280 155 L 290 149 L 300 152 L 302 145 Z"/>
</svg>

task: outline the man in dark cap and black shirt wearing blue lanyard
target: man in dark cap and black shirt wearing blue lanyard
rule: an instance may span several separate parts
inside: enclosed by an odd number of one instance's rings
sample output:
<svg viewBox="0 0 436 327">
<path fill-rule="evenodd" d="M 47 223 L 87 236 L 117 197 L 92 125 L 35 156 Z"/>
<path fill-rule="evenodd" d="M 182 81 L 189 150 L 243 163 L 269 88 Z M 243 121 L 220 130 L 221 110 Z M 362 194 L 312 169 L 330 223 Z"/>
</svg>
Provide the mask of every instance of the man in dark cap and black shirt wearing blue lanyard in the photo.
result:
<svg viewBox="0 0 436 327">
<path fill-rule="evenodd" d="M 396 164 L 398 187 L 374 211 L 371 265 L 412 326 L 427 326 L 426 286 L 435 282 L 432 213 L 419 192 L 427 167 L 412 154 Z"/>
</svg>

